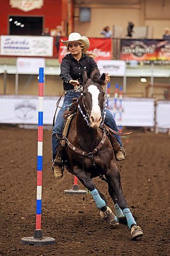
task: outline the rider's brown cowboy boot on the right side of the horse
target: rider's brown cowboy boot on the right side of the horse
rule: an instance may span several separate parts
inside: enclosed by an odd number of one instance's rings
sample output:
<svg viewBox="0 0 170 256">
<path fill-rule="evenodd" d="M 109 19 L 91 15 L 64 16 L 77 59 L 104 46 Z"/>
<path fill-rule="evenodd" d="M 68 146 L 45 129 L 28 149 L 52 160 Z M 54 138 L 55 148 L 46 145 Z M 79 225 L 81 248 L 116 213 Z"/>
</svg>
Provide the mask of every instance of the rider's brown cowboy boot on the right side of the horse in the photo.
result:
<svg viewBox="0 0 170 256">
<path fill-rule="evenodd" d="M 111 142 L 111 145 L 113 147 L 114 150 L 114 155 L 116 158 L 116 161 L 122 161 L 125 159 L 126 153 L 123 150 L 122 147 L 120 147 L 120 144 L 118 143 L 118 141 L 116 140 L 116 138 L 109 132 L 109 140 Z"/>
</svg>

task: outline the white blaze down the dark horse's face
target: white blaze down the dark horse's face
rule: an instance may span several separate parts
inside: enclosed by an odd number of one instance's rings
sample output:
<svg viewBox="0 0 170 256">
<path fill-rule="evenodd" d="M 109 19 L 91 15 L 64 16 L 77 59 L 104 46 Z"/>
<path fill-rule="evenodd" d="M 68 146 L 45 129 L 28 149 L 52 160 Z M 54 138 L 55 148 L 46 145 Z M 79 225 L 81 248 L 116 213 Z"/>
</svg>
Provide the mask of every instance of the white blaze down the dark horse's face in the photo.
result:
<svg viewBox="0 0 170 256">
<path fill-rule="evenodd" d="M 92 97 L 92 109 L 91 109 L 91 116 L 97 120 L 101 117 L 101 109 L 99 106 L 99 89 L 91 84 L 91 86 L 88 87 L 88 92 L 91 93 Z"/>
</svg>

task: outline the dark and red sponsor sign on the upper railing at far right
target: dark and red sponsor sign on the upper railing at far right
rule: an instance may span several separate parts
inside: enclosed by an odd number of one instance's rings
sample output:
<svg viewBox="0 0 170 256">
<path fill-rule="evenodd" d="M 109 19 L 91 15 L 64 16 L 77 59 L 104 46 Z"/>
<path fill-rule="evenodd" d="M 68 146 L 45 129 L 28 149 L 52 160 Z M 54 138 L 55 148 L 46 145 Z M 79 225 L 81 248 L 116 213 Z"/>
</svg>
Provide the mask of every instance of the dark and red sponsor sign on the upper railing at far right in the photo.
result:
<svg viewBox="0 0 170 256">
<path fill-rule="evenodd" d="M 158 39 L 122 39 L 120 42 L 120 59 L 137 61 L 170 60 L 170 41 Z"/>
</svg>

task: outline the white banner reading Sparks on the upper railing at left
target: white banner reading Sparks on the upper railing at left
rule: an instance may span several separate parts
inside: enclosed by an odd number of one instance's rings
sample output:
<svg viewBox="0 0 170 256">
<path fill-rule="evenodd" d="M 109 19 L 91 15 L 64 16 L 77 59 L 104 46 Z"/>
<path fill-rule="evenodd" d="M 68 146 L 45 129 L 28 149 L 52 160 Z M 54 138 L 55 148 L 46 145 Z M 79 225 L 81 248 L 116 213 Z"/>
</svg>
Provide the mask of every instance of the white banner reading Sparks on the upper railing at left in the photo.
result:
<svg viewBox="0 0 170 256">
<path fill-rule="evenodd" d="M 53 36 L 2 35 L 1 55 L 53 56 Z"/>
</svg>

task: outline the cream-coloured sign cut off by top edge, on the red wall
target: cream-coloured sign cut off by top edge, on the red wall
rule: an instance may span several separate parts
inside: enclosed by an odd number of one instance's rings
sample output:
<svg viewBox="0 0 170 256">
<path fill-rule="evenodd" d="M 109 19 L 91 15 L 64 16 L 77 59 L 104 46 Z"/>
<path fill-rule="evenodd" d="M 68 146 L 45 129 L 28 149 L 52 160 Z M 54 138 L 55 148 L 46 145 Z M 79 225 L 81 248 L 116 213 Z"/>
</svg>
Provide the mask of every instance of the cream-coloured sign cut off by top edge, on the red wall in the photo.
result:
<svg viewBox="0 0 170 256">
<path fill-rule="evenodd" d="M 43 0 L 10 0 L 11 8 L 17 8 L 24 12 L 29 12 L 34 9 L 41 9 L 44 5 Z"/>
</svg>

